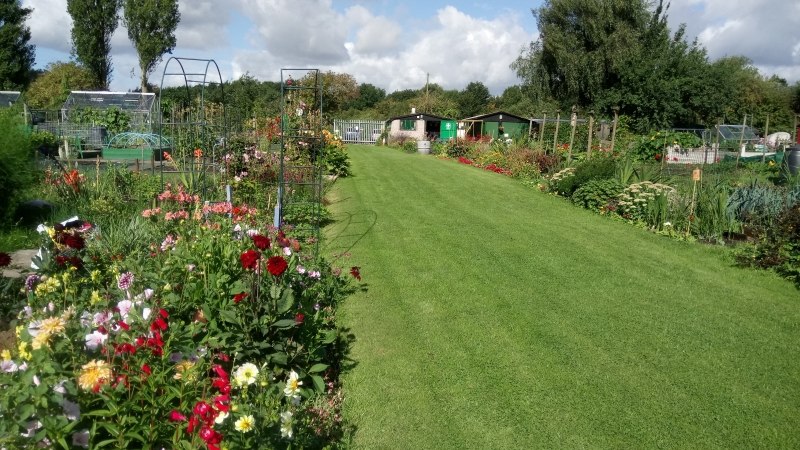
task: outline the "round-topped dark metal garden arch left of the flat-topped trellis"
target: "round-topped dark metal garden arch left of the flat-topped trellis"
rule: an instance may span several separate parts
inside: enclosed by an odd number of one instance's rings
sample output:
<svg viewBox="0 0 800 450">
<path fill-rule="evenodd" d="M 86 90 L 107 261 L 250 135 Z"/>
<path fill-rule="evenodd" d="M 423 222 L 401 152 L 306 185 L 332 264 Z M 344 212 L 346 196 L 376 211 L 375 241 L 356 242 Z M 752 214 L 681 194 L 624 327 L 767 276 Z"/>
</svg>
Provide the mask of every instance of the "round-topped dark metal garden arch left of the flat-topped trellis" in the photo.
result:
<svg viewBox="0 0 800 450">
<path fill-rule="evenodd" d="M 190 70 L 187 71 L 187 67 Z M 169 113 L 164 111 L 162 98 L 167 77 L 178 77 L 180 79 L 178 84 L 186 92 L 185 103 L 183 105 L 173 104 Z M 215 79 L 212 80 L 210 78 Z M 214 123 L 213 120 L 209 121 L 205 104 L 206 87 L 217 83 L 222 89 L 221 124 Z M 197 101 L 192 98 L 191 88 L 195 86 L 200 86 Z M 171 149 L 164 151 L 157 158 L 161 161 L 162 187 L 164 184 L 164 160 L 166 159 L 174 169 L 171 172 L 188 173 L 190 175 L 189 182 L 193 183 L 195 175 L 198 176 L 204 200 L 219 200 L 211 198 L 214 192 L 210 188 L 215 186 L 208 181 L 209 171 L 212 173 L 216 171 L 217 148 L 222 147 L 222 152 L 224 152 L 228 137 L 225 85 L 219 65 L 213 59 L 171 57 L 164 65 L 164 72 L 161 75 L 161 90 L 159 91 L 158 101 L 159 105 L 162 106 L 161 114 L 159 115 L 158 134 L 168 137 L 172 143 Z M 182 106 L 182 108 L 176 110 L 177 106 Z"/>
</svg>

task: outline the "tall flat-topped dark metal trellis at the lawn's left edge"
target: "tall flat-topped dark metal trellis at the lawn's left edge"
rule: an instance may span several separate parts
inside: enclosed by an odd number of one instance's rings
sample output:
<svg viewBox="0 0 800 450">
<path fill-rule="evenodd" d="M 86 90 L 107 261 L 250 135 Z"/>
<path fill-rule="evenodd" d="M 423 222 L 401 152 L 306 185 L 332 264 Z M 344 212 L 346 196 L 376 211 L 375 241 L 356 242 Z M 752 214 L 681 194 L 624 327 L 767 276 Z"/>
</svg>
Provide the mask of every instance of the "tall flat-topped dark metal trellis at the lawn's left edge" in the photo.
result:
<svg viewBox="0 0 800 450">
<path fill-rule="evenodd" d="M 324 167 L 319 69 L 281 69 L 280 147 L 274 225 L 312 237 L 318 255 Z"/>
</svg>

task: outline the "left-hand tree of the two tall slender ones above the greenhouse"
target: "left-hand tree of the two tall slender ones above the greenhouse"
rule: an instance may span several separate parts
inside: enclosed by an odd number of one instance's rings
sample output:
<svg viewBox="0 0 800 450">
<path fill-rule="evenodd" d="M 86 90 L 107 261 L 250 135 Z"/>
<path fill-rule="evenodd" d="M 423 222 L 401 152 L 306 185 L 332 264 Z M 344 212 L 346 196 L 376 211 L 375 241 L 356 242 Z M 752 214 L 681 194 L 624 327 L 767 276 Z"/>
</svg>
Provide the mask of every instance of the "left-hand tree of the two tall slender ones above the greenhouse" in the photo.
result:
<svg viewBox="0 0 800 450">
<path fill-rule="evenodd" d="M 120 6 L 120 0 L 67 0 L 72 53 L 103 90 L 111 82 L 111 36 L 119 24 Z"/>
</svg>

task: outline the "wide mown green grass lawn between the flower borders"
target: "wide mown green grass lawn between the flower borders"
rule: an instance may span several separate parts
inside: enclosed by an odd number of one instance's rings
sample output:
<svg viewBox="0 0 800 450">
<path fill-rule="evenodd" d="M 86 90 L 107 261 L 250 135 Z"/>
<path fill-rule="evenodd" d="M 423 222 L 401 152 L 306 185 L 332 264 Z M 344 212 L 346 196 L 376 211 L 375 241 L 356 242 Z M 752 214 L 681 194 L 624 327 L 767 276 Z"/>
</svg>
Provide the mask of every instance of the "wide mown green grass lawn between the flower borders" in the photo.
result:
<svg viewBox="0 0 800 450">
<path fill-rule="evenodd" d="M 798 448 L 800 293 L 722 249 L 351 146 L 326 254 L 356 448 Z"/>
</svg>

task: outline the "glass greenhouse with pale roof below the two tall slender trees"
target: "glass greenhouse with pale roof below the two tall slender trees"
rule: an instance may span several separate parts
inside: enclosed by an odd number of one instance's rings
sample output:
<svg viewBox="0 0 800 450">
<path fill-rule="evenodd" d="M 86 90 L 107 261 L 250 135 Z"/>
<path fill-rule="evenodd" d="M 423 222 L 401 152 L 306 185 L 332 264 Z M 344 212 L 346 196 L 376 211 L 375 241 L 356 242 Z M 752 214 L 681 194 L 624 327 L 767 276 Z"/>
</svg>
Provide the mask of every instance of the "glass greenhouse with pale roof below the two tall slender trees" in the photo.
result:
<svg viewBox="0 0 800 450">
<path fill-rule="evenodd" d="M 116 108 L 130 116 L 131 130 L 152 132 L 158 120 L 156 95 L 141 92 L 72 91 L 61 108 L 63 122 L 75 122 L 87 109 L 106 111 Z"/>
</svg>

